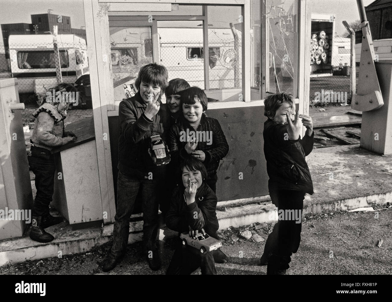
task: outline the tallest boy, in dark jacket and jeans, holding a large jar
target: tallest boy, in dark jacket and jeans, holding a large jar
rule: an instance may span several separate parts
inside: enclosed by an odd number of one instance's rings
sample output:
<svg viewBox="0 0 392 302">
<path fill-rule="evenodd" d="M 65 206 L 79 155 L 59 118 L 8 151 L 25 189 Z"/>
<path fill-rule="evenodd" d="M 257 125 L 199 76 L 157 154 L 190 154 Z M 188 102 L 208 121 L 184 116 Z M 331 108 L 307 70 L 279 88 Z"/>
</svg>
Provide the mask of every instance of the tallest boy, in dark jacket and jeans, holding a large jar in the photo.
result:
<svg viewBox="0 0 392 302">
<path fill-rule="evenodd" d="M 167 86 L 168 73 L 164 66 L 143 66 L 136 79 L 138 92 L 122 101 L 118 108 L 120 138 L 118 140 L 117 207 L 114 217 L 113 247 L 102 270 L 110 271 L 125 254 L 129 236 L 129 218 L 136 196 L 141 190 L 143 208 L 143 245 L 146 260 L 152 270 L 160 268 L 155 245 L 158 231 L 158 188 L 162 181 L 162 166 L 156 166 L 149 156 L 151 136 L 161 135 L 169 127 L 167 113 L 161 108 L 160 95 Z M 164 166 L 163 166 L 164 167 Z"/>
</svg>

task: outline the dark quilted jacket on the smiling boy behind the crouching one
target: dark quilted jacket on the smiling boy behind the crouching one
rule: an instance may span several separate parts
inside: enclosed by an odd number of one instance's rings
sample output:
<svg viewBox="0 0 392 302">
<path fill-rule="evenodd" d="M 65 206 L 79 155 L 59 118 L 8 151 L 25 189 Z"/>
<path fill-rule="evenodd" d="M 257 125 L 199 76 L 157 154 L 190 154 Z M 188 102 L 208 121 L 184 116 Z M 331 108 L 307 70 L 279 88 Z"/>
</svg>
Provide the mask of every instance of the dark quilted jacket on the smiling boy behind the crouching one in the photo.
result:
<svg viewBox="0 0 392 302">
<path fill-rule="evenodd" d="M 185 151 L 186 141 L 181 141 L 181 136 L 191 132 L 195 132 L 192 126 L 188 123 L 185 118 L 181 118 L 174 124 L 169 132 L 169 150 L 170 156 L 175 166 L 178 166 L 181 159 L 191 157 Z M 212 117 L 206 117 L 204 113 L 201 115 L 200 125 L 196 131 L 211 131 L 212 143 L 208 145 L 207 141 L 199 141 L 196 146 L 196 150 L 201 150 L 205 153 L 205 160 L 203 164 L 207 169 L 208 175 L 211 176 L 216 173 L 219 167 L 219 162 L 229 152 L 229 145 L 227 144 L 225 134 L 223 134 L 222 128 L 217 119 Z M 192 134 L 191 134 L 192 135 Z"/>
</svg>

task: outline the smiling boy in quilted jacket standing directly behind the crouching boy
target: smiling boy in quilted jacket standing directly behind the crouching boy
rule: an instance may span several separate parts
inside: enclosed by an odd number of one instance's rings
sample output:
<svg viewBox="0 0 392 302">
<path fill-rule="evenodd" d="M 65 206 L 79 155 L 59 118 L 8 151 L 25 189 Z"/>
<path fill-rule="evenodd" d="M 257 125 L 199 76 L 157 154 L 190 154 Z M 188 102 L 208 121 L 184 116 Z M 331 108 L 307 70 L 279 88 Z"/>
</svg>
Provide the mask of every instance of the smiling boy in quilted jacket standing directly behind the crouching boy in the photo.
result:
<svg viewBox="0 0 392 302">
<path fill-rule="evenodd" d="M 219 162 L 229 152 L 225 134 L 218 120 L 206 117 L 207 96 L 193 86 L 180 92 L 183 116 L 172 126 L 169 134 L 169 150 L 173 163 L 195 158 L 207 169 L 207 185 L 216 193 L 216 170 Z M 218 234 L 209 234 L 219 240 Z M 214 251 L 216 263 L 226 263 L 227 256 L 220 250 Z"/>
</svg>

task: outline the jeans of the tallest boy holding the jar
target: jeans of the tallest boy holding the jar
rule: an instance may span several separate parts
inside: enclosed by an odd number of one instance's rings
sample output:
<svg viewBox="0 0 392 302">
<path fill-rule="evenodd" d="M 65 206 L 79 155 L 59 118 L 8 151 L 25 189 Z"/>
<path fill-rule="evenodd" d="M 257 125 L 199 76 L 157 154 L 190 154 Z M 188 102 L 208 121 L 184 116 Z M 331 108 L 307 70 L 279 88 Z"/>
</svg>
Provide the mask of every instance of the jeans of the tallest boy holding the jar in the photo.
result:
<svg viewBox="0 0 392 302">
<path fill-rule="evenodd" d="M 142 190 L 143 247 L 145 253 L 156 251 L 158 232 L 158 196 L 156 179 L 141 179 L 118 171 L 117 208 L 114 216 L 113 247 L 111 254 L 119 258 L 125 253 L 129 237 L 129 218 L 136 196 Z"/>
</svg>

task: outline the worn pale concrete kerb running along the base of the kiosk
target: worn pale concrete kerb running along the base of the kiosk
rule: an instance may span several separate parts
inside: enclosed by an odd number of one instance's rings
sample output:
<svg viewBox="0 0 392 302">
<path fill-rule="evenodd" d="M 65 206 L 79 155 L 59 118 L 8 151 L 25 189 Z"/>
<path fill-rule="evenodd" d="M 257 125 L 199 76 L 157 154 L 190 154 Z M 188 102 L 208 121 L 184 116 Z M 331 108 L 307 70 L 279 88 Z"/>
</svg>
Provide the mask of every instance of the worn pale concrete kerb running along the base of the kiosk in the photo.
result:
<svg viewBox="0 0 392 302">
<path fill-rule="evenodd" d="M 249 225 L 254 222 L 270 223 L 276 221 L 271 218 L 276 217 L 277 209 L 267 199 L 267 196 L 252 198 L 253 203 L 250 204 L 250 199 L 237 200 L 236 202 L 219 202 L 217 207 L 219 209 L 226 209 L 217 210 L 220 229 L 226 229 L 230 226 L 239 227 L 241 225 Z M 328 214 L 330 212 L 346 211 L 361 207 L 374 207 L 377 209 L 385 206 L 387 202 L 392 203 L 392 192 L 315 204 L 311 203 L 310 196 L 306 196 L 303 215 Z M 97 245 L 109 242 L 113 234 L 113 224 L 83 229 L 80 235 L 73 235 L 72 233 L 75 233 L 75 231 L 69 225 L 63 223 L 62 226 L 61 231 L 58 232 L 56 229 L 48 229 L 56 238 L 50 243 L 33 242 L 28 237 L 1 241 L 0 266 L 7 263 L 24 262 L 26 260 L 58 257 L 59 251 L 61 251 L 62 255 L 86 253 Z M 129 244 L 142 240 L 142 229 L 143 222 L 141 220 L 130 223 Z M 169 230 L 165 225 L 161 225 L 157 239 L 166 240 L 167 238 L 175 237 L 176 234 L 176 232 Z"/>
</svg>

